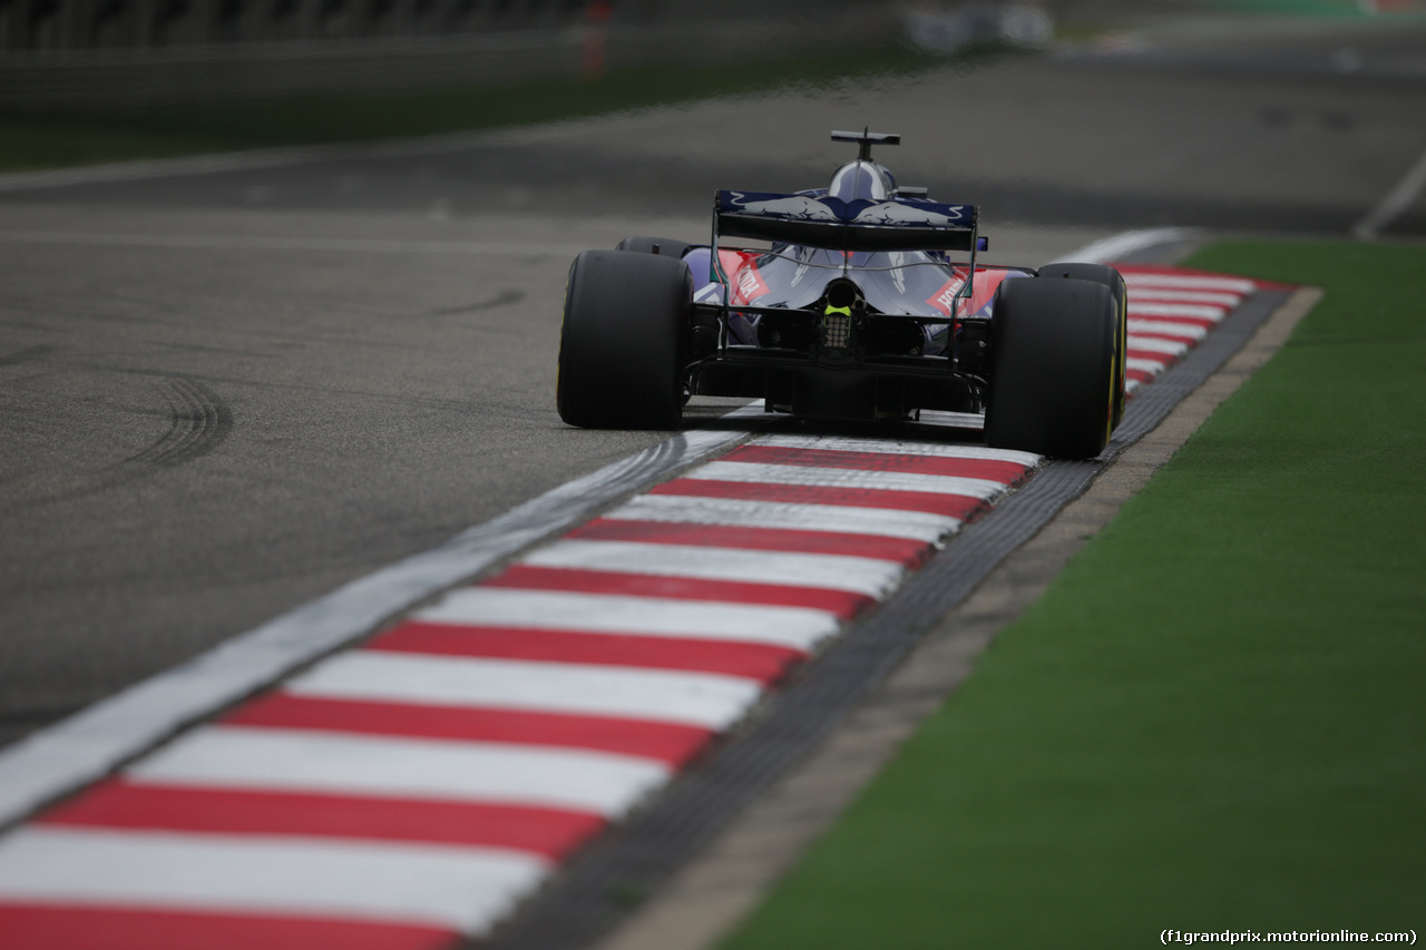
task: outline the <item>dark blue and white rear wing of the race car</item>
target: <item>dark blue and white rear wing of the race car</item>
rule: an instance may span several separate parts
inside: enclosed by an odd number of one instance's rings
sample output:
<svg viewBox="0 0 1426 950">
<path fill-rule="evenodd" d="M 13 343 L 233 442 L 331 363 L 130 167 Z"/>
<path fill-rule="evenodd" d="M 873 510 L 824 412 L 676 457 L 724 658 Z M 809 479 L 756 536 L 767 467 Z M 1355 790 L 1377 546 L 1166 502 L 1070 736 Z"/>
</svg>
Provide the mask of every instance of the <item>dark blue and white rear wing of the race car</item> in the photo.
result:
<svg viewBox="0 0 1426 950">
<path fill-rule="evenodd" d="M 831 251 L 970 251 L 974 255 L 981 250 L 975 223 L 973 204 L 719 191 L 713 244 L 719 235 L 726 235 Z"/>
</svg>

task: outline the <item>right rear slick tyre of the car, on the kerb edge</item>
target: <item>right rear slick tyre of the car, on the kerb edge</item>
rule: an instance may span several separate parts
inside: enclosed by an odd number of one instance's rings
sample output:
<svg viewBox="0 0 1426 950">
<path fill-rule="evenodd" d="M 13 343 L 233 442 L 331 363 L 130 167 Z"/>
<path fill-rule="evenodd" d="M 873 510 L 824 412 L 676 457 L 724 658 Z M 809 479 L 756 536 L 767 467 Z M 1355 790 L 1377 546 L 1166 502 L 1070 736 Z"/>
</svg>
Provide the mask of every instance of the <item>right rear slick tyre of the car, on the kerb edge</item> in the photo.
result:
<svg viewBox="0 0 1426 950">
<path fill-rule="evenodd" d="M 991 320 L 985 442 L 1094 458 L 1114 427 L 1119 311 L 1098 281 L 1005 281 Z"/>
</svg>

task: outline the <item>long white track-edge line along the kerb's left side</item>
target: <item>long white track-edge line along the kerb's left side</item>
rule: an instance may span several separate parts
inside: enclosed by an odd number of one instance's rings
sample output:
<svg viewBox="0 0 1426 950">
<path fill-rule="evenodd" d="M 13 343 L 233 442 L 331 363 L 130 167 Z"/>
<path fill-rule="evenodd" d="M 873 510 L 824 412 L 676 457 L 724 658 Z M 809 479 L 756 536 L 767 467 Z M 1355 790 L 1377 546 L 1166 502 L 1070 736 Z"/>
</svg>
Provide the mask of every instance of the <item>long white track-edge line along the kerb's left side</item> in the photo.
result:
<svg viewBox="0 0 1426 950">
<path fill-rule="evenodd" d="M 746 407 L 724 419 L 760 418 Z M 0 752 L 0 824 L 93 782 L 125 759 L 378 628 L 391 616 L 589 516 L 640 485 L 736 445 L 693 431 L 607 465 L 151 676 Z"/>
</svg>

